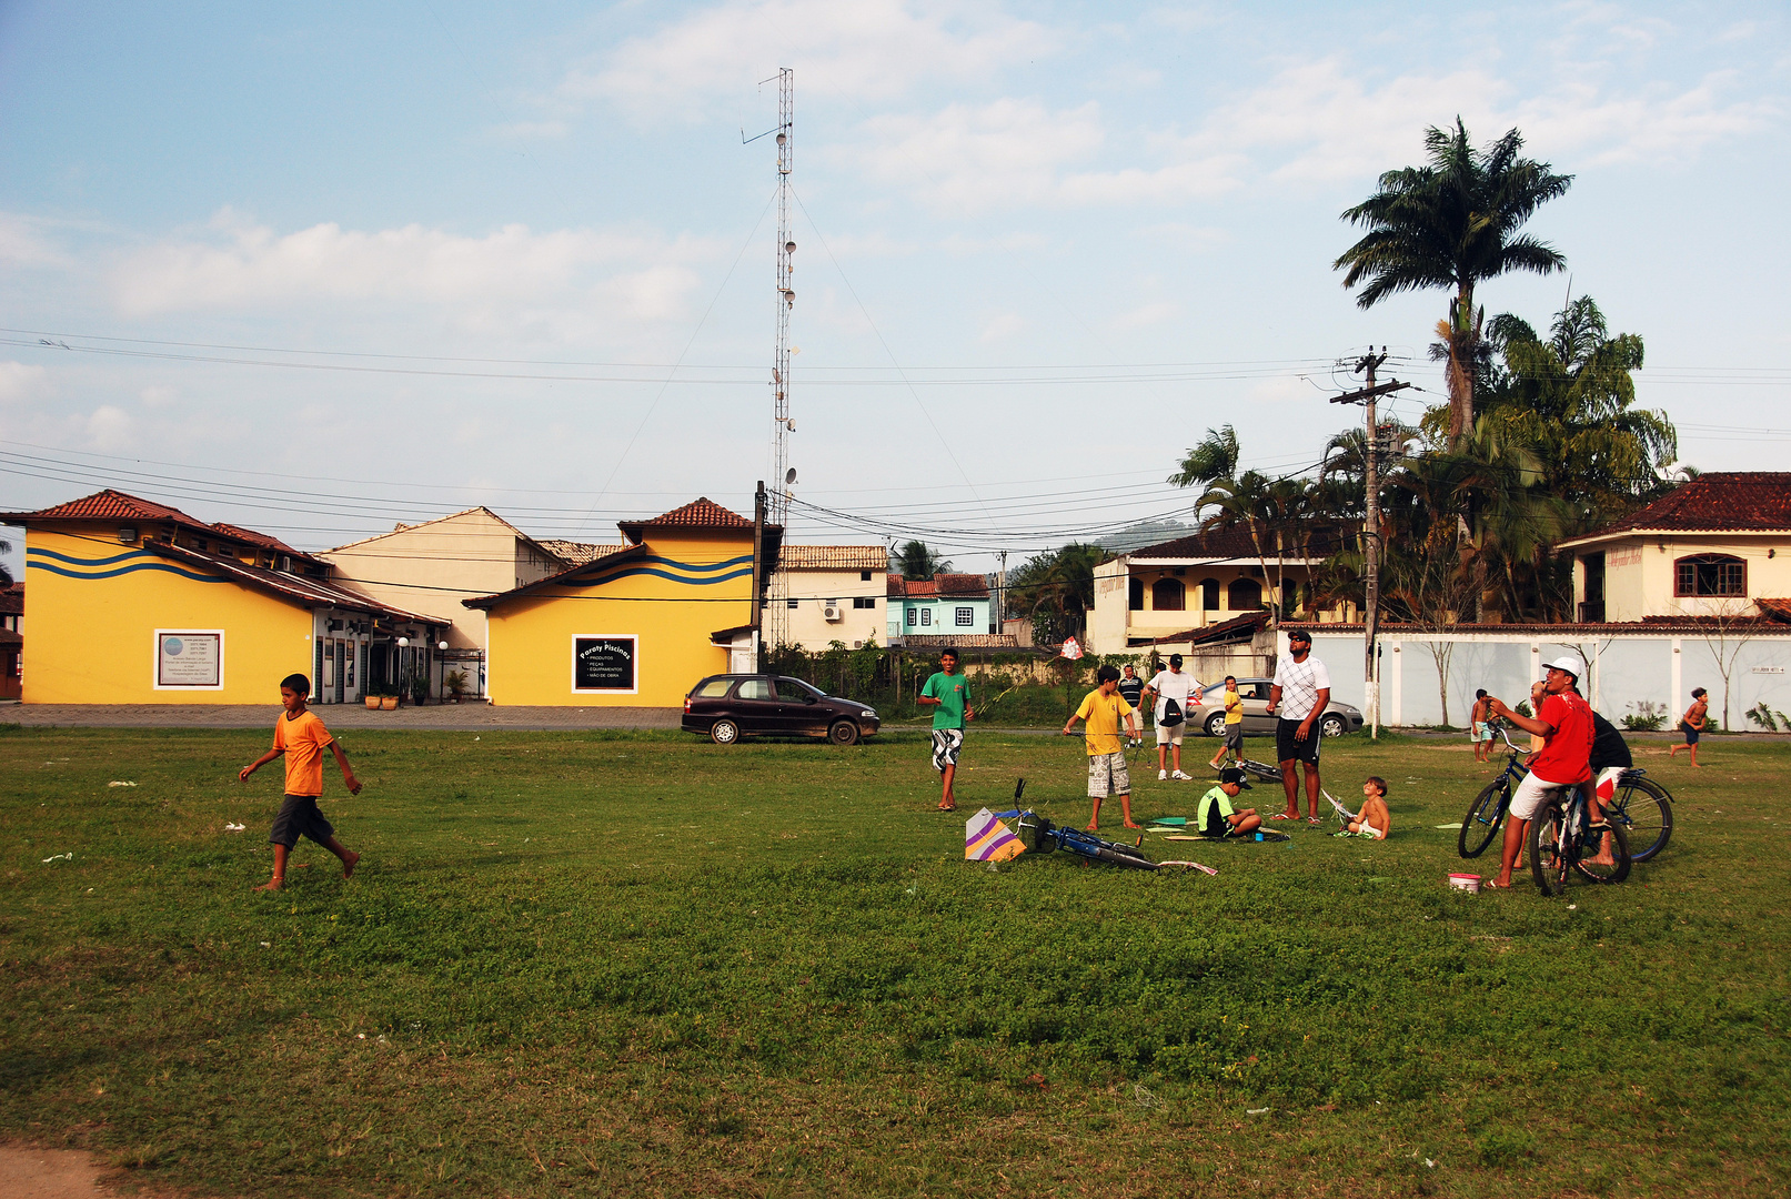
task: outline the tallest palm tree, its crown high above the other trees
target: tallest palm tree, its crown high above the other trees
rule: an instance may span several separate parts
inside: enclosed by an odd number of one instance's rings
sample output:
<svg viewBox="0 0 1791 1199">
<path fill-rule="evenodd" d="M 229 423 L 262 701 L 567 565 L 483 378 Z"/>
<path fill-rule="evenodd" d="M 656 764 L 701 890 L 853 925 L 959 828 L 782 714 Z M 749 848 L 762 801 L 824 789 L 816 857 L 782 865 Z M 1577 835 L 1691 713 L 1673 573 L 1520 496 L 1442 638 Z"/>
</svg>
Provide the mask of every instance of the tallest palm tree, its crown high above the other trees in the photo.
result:
<svg viewBox="0 0 1791 1199">
<path fill-rule="evenodd" d="M 1522 145 L 1512 129 L 1476 150 L 1456 116 L 1454 129 L 1424 131 L 1426 166 L 1386 172 L 1379 191 L 1343 211 L 1343 220 L 1368 229 L 1333 263 L 1349 272 L 1343 286 L 1365 283 L 1356 297 L 1361 308 L 1417 288 L 1454 290 L 1447 317 L 1451 442 L 1474 424 L 1472 361 L 1481 322 L 1474 285 L 1510 270 L 1549 274 L 1565 267 L 1555 247 L 1519 227 L 1565 193 L 1572 175 L 1519 157 Z"/>
</svg>

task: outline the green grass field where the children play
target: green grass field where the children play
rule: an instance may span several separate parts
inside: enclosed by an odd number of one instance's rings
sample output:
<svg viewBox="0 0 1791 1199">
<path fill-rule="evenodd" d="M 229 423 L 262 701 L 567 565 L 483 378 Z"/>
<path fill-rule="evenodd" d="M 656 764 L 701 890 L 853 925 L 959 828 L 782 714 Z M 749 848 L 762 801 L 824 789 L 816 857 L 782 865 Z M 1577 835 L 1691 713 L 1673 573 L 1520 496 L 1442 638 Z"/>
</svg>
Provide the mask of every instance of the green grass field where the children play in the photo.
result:
<svg viewBox="0 0 1791 1199">
<path fill-rule="evenodd" d="M 1673 845 L 1558 900 L 1444 886 L 1463 741 L 1327 746 L 1384 845 L 1146 839 L 1205 877 L 965 864 L 1015 775 L 1085 820 L 1080 743 L 973 737 L 953 818 L 910 734 L 356 732 L 360 873 L 253 895 L 265 744 L 0 730 L 0 1136 L 245 1197 L 1791 1190 L 1782 743 L 1650 746 Z"/>
</svg>

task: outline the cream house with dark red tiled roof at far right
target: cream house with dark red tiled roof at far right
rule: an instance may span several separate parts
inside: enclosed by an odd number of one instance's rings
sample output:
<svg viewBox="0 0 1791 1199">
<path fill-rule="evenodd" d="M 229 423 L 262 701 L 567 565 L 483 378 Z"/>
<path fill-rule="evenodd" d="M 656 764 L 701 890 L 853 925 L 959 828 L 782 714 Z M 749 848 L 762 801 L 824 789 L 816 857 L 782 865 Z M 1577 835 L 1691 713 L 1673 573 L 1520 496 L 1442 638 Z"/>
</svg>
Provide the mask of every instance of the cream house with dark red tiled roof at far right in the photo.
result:
<svg viewBox="0 0 1791 1199">
<path fill-rule="evenodd" d="M 1560 548 L 1581 621 L 1761 616 L 1791 596 L 1791 472 L 1700 474 Z"/>
</svg>

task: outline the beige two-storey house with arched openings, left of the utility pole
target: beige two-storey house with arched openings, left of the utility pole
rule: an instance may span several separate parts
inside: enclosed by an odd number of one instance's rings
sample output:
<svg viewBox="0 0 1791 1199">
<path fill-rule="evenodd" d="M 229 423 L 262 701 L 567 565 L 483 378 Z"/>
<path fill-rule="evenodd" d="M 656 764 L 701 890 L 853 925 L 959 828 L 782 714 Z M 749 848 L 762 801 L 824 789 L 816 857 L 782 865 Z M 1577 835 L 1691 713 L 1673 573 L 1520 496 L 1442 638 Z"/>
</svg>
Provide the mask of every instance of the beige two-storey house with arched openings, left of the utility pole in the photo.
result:
<svg viewBox="0 0 1791 1199">
<path fill-rule="evenodd" d="M 1109 558 L 1094 567 L 1087 650 L 1127 653 L 1200 641 L 1205 628 L 1273 607 L 1282 589 L 1290 616 L 1359 619 L 1349 605 L 1313 610 L 1311 580 L 1336 549 L 1336 533 L 1315 530 L 1311 542 L 1279 555 L 1268 546 L 1264 560 L 1248 531 L 1216 530 Z"/>
</svg>

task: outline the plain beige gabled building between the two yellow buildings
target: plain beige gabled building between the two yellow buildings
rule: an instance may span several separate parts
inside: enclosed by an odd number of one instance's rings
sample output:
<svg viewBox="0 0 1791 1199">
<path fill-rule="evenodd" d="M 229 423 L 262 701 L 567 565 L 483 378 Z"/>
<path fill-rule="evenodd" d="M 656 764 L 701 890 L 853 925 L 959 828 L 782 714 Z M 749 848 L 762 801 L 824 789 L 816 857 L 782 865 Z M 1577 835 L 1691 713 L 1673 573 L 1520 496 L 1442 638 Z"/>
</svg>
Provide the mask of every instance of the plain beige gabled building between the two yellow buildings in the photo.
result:
<svg viewBox="0 0 1791 1199">
<path fill-rule="evenodd" d="M 566 569 L 553 555 L 489 508 L 467 508 L 439 521 L 399 524 L 317 555 L 333 578 L 381 603 L 451 614 L 439 653 L 441 671 L 464 671 L 467 694 L 485 694 L 484 666 L 489 641 L 485 612 L 462 600 L 527 587 Z M 441 680 L 435 680 L 439 689 Z"/>
</svg>

